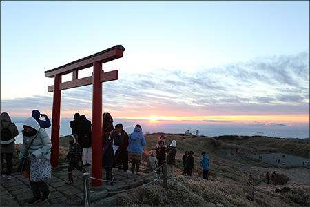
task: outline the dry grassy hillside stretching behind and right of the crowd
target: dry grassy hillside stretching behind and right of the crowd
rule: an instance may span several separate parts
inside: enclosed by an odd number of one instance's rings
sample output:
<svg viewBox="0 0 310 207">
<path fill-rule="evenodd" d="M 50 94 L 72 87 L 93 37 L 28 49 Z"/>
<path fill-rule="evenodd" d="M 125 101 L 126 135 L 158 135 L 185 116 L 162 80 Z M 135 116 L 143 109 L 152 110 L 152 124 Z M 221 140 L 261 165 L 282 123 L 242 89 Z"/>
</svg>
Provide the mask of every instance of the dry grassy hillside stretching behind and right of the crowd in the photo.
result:
<svg viewBox="0 0 310 207">
<path fill-rule="evenodd" d="M 160 134 L 145 135 L 141 170 L 147 168 L 149 150 L 154 149 Z M 309 158 L 309 141 L 275 139 L 270 137 L 192 137 L 166 134 L 166 144 L 176 140 L 176 175 L 169 175 L 168 189 L 162 180 L 129 193 L 116 195 L 118 206 L 309 206 L 309 180 L 289 179 L 284 185 L 265 183 L 267 168 L 257 161 L 245 159 L 247 153 L 280 152 Z M 59 163 L 65 162 L 68 137 L 60 138 Z M 17 146 L 16 159 L 20 146 Z M 186 150 L 194 151 L 195 170 L 192 177 L 182 176 L 182 156 Z M 209 181 L 202 179 L 199 160 L 201 151 L 210 158 Z M 245 168 L 247 164 L 252 166 Z M 14 164 L 17 166 L 17 164 Z M 131 164 L 130 164 L 131 166 Z M 3 166 L 2 166 L 3 167 Z M 276 170 L 275 166 L 272 169 Z M 3 168 L 3 170 L 6 170 Z M 309 168 L 285 168 L 279 172 L 292 172 L 300 177 L 309 176 Z M 270 171 L 269 171 L 270 172 Z M 305 173 L 305 174 L 302 174 Z M 247 186 L 249 174 L 254 176 L 255 186 Z M 279 173 L 280 174 L 280 173 Z M 282 174 L 281 174 L 282 175 Z"/>
</svg>

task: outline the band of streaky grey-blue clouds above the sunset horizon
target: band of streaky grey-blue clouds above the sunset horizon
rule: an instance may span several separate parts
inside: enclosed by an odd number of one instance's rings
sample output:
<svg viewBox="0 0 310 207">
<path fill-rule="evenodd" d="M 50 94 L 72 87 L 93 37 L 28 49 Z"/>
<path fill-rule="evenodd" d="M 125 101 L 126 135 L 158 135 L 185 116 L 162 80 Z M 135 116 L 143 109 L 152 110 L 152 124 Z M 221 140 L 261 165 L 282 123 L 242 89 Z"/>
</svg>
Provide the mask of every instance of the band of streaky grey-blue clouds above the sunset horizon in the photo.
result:
<svg viewBox="0 0 310 207">
<path fill-rule="evenodd" d="M 1 99 L 1 110 L 52 110 L 52 93 Z M 63 90 L 61 111 L 92 109 L 92 86 Z M 103 109 L 133 117 L 309 114 L 309 54 L 260 57 L 193 72 L 160 68 L 103 83 Z M 214 121 L 215 120 L 204 120 Z"/>
</svg>

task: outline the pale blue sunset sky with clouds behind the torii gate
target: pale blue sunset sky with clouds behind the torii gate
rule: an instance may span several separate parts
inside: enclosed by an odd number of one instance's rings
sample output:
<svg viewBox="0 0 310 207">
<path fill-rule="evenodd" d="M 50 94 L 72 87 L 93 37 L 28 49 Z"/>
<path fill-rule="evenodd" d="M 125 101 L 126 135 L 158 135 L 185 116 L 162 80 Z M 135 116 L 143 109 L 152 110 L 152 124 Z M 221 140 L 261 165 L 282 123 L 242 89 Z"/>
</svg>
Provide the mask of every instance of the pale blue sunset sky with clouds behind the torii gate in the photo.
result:
<svg viewBox="0 0 310 207">
<path fill-rule="evenodd" d="M 1 1 L 1 112 L 51 117 L 45 71 L 116 45 L 123 57 L 103 64 L 118 70 L 103 83 L 114 119 L 309 137 L 309 1 Z M 92 86 L 61 95 L 62 118 L 91 118 Z"/>
</svg>

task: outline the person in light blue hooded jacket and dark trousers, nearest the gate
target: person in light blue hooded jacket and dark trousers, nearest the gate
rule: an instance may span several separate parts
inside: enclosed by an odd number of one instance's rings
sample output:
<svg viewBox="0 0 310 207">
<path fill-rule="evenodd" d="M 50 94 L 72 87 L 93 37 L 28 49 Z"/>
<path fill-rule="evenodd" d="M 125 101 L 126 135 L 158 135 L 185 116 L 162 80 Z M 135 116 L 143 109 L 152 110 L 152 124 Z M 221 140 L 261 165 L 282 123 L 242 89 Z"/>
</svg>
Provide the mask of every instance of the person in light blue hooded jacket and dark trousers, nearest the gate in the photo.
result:
<svg viewBox="0 0 310 207">
<path fill-rule="evenodd" d="M 130 134 L 128 139 L 127 151 L 130 154 L 132 160 L 132 174 L 136 171 L 136 175 L 140 175 L 140 161 L 142 160 L 143 146 L 145 146 L 145 137 L 142 133 L 142 128 L 139 124 L 134 128 L 134 132 Z"/>
</svg>

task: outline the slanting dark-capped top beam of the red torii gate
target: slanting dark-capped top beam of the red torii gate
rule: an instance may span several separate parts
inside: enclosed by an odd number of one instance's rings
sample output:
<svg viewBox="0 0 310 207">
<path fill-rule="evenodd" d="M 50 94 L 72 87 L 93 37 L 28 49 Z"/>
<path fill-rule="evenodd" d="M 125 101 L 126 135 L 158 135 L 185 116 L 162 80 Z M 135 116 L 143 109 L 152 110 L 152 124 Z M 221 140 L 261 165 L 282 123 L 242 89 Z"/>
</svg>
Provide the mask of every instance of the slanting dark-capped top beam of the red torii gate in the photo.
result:
<svg viewBox="0 0 310 207">
<path fill-rule="evenodd" d="M 65 64 L 58 68 L 45 71 L 45 77 L 54 77 L 55 75 L 65 75 L 70 72 L 74 72 L 74 70 L 82 70 L 85 68 L 89 68 L 93 66 L 94 62 L 106 63 L 108 61 L 112 61 L 114 59 L 123 57 L 124 51 L 125 48 L 122 45 L 117 45 L 112 48 L 108 48 L 107 50 L 97 52 L 94 55 L 90 55 L 82 59 L 73 61 L 71 63 Z"/>
</svg>

